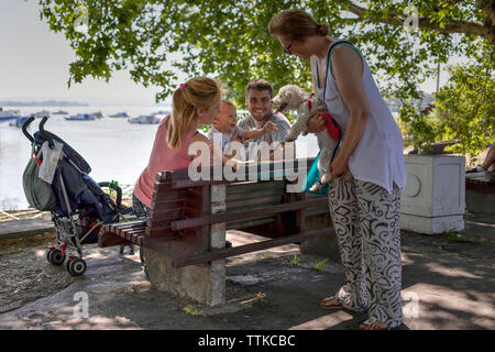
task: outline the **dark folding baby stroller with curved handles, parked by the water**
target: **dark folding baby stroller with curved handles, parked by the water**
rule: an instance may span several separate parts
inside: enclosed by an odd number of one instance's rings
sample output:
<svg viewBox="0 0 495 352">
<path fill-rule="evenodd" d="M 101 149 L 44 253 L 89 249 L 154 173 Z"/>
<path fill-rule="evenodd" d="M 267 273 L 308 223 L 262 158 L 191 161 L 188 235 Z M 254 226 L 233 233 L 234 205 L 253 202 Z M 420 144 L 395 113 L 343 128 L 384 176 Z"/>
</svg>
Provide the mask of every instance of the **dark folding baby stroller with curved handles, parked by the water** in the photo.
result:
<svg viewBox="0 0 495 352">
<path fill-rule="evenodd" d="M 118 185 L 97 184 L 88 176 L 91 172 L 89 164 L 61 138 L 44 130 L 46 120 L 47 117 L 42 119 L 40 130 L 33 135 L 28 132 L 28 125 L 34 121 L 33 117 L 22 125 L 22 132 L 31 141 L 33 150 L 31 164 L 28 164 L 23 175 L 24 193 L 31 206 L 38 210 L 51 211 L 56 231 L 56 245 L 46 252 L 47 261 L 53 265 L 62 265 L 68 257 L 67 271 L 73 276 L 79 276 L 87 267 L 82 258 L 82 244 L 98 242 L 98 232 L 102 224 L 125 219 L 127 215 L 132 213 L 132 208 L 121 206 L 122 190 Z M 37 172 L 28 170 L 30 167 L 36 168 L 33 160 L 41 166 L 42 146 L 46 144 L 45 147 L 53 150 L 56 142 L 62 143 L 62 152 L 56 161 L 52 184 L 48 185 L 37 178 Z M 116 202 L 101 189 L 102 187 L 117 191 Z M 41 194 L 42 188 L 44 194 Z M 37 200 L 46 194 L 50 194 L 52 199 L 41 207 Z"/>
</svg>

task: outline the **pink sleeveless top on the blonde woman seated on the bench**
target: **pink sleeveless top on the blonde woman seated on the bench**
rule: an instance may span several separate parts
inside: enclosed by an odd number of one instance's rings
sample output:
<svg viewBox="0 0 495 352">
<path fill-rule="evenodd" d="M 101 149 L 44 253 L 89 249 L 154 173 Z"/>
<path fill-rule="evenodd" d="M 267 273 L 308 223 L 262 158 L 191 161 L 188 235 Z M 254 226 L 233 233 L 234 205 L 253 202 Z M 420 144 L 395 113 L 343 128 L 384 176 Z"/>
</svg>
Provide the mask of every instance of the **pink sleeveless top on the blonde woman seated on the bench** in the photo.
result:
<svg viewBox="0 0 495 352">
<path fill-rule="evenodd" d="M 150 162 L 134 186 L 134 195 L 146 207 L 151 207 L 156 173 L 187 168 L 190 163 L 190 157 L 187 155 L 187 150 L 189 147 L 190 139 L 196 133 L 196 130 L 191 130 L 186 133 L 179 148 L 170 148 L 167 144 L 166 121 L 168 119 L 169 116 L 160 122 L 150 156 Z"/>
</svg>

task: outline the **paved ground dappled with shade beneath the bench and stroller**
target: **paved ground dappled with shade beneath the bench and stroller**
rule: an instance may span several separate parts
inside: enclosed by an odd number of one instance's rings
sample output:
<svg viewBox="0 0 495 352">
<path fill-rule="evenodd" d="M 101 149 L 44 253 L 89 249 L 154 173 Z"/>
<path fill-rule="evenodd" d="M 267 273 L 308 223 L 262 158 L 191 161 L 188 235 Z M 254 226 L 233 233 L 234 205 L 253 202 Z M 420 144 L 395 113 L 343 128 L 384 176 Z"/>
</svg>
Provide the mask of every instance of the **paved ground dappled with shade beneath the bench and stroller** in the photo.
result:
<svg viewBox="0 0 495 352">
<path fill-rule="evenodd" d="M 87 246 L 72 279 L 45 260 L 52 234 L 0 241 L 0 329 L 356 329 L 365 316 L 319 308 L 343 267 L 287 245 L 228 261 L 227 299 L 205 308 L 150 288 L 139 255 Z M 246 241 L 235 231 L 233 244 Z M 461 235 L 403 232 L 399 329 L 495 329 L 495 222 L 469 216 Z M 7 283 L 7 285 L 3 285 Z M 82 293 L 82 294 L 81 294 Z M 85 296 L 87 295 L 87 296 Z M 81 298 L 87 319 L 78 318 Z"/>
</svg>

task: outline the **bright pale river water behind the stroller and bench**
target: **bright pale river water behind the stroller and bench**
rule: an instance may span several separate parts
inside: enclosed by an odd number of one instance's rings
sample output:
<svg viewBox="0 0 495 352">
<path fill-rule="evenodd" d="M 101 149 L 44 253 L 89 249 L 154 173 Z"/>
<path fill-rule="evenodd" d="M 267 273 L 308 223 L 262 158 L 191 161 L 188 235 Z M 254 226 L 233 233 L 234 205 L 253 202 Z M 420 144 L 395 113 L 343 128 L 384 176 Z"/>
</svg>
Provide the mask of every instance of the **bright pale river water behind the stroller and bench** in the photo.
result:
<svg viewBox="0 0 495 352">
<path fill-rule="evenodd" d="M 58 111 L 54 107 L 4 107 L 20 109 L 22 116 L 36 111 Z M 76 113 L 101 111 L 103 118 L 95 121 L 66 121 L 64 117 L 52 114 L 45 124 L 51 131 L 75 148 L 91 166 L 90 176 L 96 182 L 117 180 L 119 185 L 134 185 L 147 165 L 157 124 L 133 124 L 128 119 L 109 118 L 121 111 L 131 117 L 150 114 L 167 107 L 63 107 L 62 110 Z M 158 117 L 163 117 L 160 116 Z M 37 131 L 41 120 L 31 123 L 29 132 Z M 307 155 L 299 150 L 297 157 L 316 156 L 318 145 L 315 135 L 299 136 L 298 145 L 306 144 Z M 21 129 L 0 122 L 0 210 L 24 209 L 29 204 L 22 188 L 22 173 L 30 160 L 31 143 Z"/>
</svg>

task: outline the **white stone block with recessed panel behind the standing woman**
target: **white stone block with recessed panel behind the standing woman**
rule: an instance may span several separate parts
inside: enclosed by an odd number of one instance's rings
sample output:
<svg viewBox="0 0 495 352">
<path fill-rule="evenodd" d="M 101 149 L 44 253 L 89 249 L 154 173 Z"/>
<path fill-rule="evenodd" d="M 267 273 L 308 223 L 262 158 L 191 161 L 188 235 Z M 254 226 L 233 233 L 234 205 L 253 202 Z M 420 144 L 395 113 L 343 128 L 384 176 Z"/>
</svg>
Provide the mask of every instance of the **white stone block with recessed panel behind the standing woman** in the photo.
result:
<svg viewBox="0 0 495 352">
<path fill-rule="evenodd" d="M 464 156 L 405 155 L 404 162 L 400 228 L 420 233 L 464 229 Z"/>
</svg>

